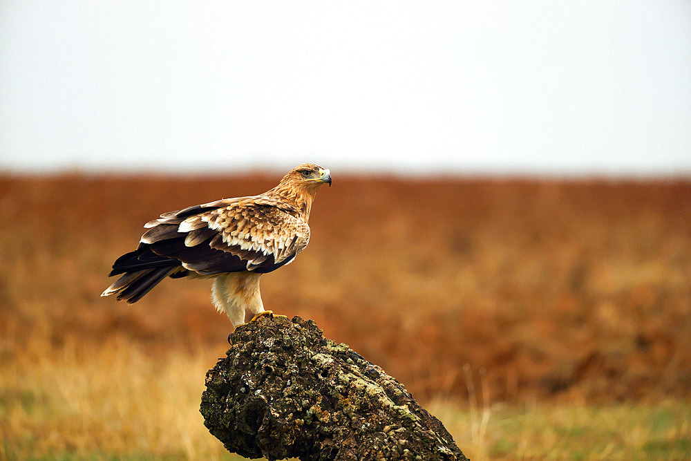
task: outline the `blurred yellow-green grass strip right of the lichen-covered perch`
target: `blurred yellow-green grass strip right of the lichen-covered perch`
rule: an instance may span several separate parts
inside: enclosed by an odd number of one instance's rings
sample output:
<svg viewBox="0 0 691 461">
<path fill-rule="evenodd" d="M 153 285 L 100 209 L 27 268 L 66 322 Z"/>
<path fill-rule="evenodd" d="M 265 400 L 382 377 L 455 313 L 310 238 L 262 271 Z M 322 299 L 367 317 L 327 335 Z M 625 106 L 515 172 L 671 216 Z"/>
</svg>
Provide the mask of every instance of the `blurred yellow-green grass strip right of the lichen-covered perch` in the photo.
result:
<svg viewBox="0 0 691 461">
<path fill-rule="evenodd" d="M 487 459 L 683 460 L 691 457 L 691 404 L 549 404 L 459 411 L 430 406 L 463 452 Z"/>
</svg>

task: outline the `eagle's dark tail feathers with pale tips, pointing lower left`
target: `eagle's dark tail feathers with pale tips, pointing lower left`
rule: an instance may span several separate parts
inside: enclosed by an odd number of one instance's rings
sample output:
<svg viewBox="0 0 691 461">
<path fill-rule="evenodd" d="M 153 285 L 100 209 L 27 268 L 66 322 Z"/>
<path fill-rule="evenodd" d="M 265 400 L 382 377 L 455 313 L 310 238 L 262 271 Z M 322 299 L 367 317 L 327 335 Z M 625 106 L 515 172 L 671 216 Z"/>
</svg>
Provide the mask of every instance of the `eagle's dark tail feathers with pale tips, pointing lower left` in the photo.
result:
<svg viewBox="0 0 691 461">
<path fill-rule="evenodd" d="M 169 275 L 177 275 L 180 270 L 180 261 L 158 256 L 146 245 L 117 258 L 111 276 L 122 275 L 101 296 L 117 294 L 118 301 L 124 299 L 129 304 L 136 303 L 163 279 Z"/>
</svg>

